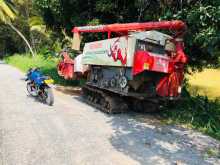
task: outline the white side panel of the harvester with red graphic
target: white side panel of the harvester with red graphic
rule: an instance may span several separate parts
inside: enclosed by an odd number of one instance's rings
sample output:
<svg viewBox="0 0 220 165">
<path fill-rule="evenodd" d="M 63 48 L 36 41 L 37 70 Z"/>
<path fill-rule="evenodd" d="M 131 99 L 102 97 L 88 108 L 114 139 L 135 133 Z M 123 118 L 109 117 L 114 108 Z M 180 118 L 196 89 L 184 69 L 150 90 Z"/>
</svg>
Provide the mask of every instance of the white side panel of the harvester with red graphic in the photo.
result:
<svg viewBox="0 0 220 165">
<path fill-rule="evenodd" d="M 106 66 L 132 66 L 134 39 L 118 37 L 86 43 L 83 64 Z"/>
</svg>

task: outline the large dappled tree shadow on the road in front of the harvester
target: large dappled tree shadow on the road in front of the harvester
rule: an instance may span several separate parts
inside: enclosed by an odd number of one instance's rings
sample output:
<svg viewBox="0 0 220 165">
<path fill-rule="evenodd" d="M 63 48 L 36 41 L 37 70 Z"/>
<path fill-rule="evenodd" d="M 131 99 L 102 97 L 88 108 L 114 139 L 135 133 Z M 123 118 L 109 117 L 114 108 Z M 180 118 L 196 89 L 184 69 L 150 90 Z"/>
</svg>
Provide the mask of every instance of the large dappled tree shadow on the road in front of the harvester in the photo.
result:
<svg viewBox="0 0 220 165">
<path fill-rule="evenodd" d="M 139 123 L 131 114 L 114 116 L 110 124 L 115 131 L 110 139 L 112 146 L 141 164 L 176 163 L 180 160 L 192 164 L 193 160 L 184 159 L 198 157 L 189 149 L 190 139 L 180 143 L 183 135 L 172 132 L 170 127 Z"/>
</svg>

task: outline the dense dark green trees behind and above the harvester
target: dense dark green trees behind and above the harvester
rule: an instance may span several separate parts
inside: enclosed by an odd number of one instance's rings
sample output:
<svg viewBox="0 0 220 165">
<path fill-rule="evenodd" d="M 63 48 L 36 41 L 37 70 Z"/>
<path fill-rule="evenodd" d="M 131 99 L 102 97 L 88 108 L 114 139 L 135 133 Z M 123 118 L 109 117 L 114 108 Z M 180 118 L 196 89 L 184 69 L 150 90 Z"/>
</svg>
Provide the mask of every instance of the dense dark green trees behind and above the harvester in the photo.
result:
<svg viewBox="0 0 220 165">
<path fill-rule="evenodd" d="M 190 56 L 190 66 L 200 69 L 202 66 L 219 65 L 219 0 L 14 0 L 13 2 L 19 13 L 15 25 L 25 33 L 37 50 L 45 45 L 46 49 L 54 49 L 57 46 L 60 48 L 64 39 L 69 40 L 73 26 L 180 19 L 188 26 L 185 47 Z M 30 23 L 33 17 L 41 20 L 35 21 L 35 27 L 37 23 L 38 28 L 34 30 L 33 24 Z M 12 32 L 5 33 L 5 28 L 0 29 L 0 36 L 13 45 L 10 49 L 3 42 L 0 44 L 1 53 L 2 47 L 7 47 L 6 52 L 9 53 L 25 50 L 23 44 L 16 44 L 19 39 L 16 39 Z"/>
</svg>

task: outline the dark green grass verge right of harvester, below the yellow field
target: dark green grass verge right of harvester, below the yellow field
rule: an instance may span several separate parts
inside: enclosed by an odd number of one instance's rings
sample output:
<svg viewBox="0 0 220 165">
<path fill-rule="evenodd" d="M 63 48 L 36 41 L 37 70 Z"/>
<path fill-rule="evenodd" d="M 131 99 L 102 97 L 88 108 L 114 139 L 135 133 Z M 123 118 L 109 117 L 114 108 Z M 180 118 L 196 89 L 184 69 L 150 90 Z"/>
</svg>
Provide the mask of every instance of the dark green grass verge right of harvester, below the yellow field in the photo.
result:
<svg viewBox="0 0 220 165">
<path fill-rule="evenodd" d="M 207 96 L 184 96 L 161 114 L 165 123 L 185 125 L 220 140 L 220 100 Z"/>
</svg>

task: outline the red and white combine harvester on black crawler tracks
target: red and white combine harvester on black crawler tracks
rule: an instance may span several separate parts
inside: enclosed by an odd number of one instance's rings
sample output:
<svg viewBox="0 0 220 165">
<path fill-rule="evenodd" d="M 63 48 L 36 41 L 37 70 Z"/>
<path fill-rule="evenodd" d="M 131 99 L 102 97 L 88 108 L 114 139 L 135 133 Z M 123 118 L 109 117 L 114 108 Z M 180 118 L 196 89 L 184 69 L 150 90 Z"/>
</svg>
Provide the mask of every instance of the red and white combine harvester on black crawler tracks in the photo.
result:
<svg viewBox="0 0 220 165">
<path fill-rule="evenodd" d="M 73 60 L 64 53 L 58 73 L 66 79 L 86 75 L 84 99 L 104 112 L 119 113 L 128 107 L 155 111 L 180 97 L 187 63 L 185 30 L 178 20 L 75 27 L 75 50 L 80 49 L 82 33 L 107 33 L 108 39 L 85 43 L 83 53 Z"/>
</svg>

